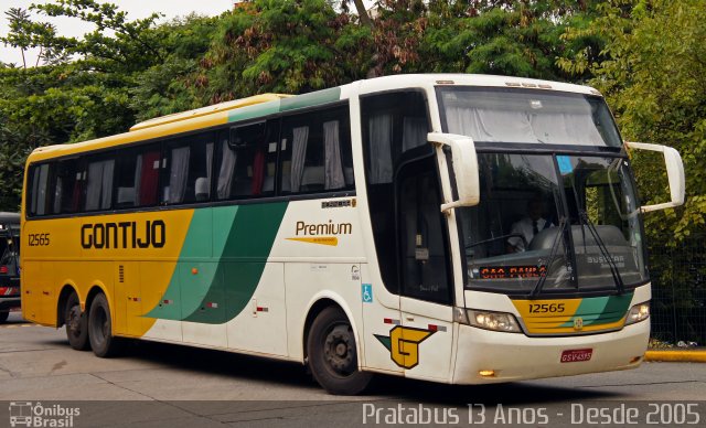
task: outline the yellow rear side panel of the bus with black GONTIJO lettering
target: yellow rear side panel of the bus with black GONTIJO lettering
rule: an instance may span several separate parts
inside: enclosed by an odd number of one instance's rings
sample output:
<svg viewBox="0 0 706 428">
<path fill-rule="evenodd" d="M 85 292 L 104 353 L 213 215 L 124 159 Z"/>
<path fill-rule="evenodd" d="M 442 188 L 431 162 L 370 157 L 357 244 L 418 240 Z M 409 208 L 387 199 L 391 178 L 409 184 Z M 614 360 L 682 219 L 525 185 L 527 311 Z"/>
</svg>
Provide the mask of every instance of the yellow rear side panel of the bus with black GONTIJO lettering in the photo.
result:
<svg viewBox="0 0 706 428">
<path fill-rule="evenodd" d="M 154 323 L 141 315 L 167 290 L 193 213 L 173 210 L 24 222 L 23 243 L 29 234 L 43 234 L 49 242 L 22 249 L 22 287 L 30 291 L 24 315 L 54 325 L 64 285 L 75 286 L 82 303 L 90 288 L 100 285 L 108 295 L 116 333 L 141 336 Z M 147 229 L 154 224 L 163 225 L 163 239 L 148 242 Z M 149 245 L 140 248 L 140 243 Z"/>
</svg>

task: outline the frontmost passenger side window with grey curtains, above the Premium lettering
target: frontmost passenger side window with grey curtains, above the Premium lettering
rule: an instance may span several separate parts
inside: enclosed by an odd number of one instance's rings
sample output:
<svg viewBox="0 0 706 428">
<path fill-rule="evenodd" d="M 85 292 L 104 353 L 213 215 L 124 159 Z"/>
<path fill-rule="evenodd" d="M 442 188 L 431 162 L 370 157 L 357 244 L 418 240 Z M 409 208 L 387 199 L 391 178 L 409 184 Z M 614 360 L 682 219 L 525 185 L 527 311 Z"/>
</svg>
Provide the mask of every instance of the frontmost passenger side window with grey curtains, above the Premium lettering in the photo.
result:
<svg viewBox="0 0 706 428">
<path fill-rule="evenodd" d="M 353 189 L 347 106 L 282 119 L 281 192 Z"/>
</svg>

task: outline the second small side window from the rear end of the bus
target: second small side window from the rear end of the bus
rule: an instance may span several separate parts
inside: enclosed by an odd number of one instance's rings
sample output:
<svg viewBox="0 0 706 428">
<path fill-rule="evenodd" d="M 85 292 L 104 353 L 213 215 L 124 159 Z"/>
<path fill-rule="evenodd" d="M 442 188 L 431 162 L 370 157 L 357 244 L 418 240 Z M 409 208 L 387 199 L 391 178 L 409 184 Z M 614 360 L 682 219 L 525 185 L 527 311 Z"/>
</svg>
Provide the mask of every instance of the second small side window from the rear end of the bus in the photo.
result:
<svg viewBox="0 0 706 428">
<path fill-rule="evenodd" d="M 65 159 L 54 164 L 52 182 L 53 214 L 76 213 L 81 207 L 85 172 L 78 158 Z"/>
</svg>

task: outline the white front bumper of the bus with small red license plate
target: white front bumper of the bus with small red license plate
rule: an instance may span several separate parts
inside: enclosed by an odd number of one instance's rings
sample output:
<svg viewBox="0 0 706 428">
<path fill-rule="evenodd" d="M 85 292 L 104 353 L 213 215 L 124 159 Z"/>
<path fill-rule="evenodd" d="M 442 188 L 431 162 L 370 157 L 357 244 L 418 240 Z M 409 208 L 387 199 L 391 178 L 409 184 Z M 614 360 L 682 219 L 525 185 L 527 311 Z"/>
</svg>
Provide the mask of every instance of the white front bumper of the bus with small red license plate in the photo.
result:
<svg viewBox="0 0 706 428">
<path fill-rule="evenodd" d="M 459 325 L 454 384 L 489 384 L 635 368 L 650 338 L 649 320 L 620 331 L 530 338 Z M 588 361 L 563 363 L 561 353 L 591 350 Z"/>
</svg>

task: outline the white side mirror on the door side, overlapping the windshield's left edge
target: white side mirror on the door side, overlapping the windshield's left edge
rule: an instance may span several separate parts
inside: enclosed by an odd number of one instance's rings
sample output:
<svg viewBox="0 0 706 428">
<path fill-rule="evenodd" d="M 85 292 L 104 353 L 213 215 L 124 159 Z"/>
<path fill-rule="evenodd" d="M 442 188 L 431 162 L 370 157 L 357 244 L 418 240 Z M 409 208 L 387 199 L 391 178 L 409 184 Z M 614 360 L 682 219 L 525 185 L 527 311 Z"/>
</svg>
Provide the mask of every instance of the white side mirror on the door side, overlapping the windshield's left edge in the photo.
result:
<svg viewBox="0 0 706 428">
<path fill-rule="evenodd" d="M 453 133 L 429 132 L 427 140 L 435 146 L 448 146 L 451 149 L 451 162 L 459 199 L 441 204 L 441 211 L 446 212 L 457 206 L 478 205 L 480 185 L 473 139 Z"/>
</svg>

